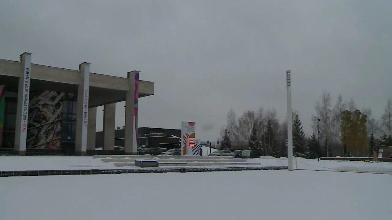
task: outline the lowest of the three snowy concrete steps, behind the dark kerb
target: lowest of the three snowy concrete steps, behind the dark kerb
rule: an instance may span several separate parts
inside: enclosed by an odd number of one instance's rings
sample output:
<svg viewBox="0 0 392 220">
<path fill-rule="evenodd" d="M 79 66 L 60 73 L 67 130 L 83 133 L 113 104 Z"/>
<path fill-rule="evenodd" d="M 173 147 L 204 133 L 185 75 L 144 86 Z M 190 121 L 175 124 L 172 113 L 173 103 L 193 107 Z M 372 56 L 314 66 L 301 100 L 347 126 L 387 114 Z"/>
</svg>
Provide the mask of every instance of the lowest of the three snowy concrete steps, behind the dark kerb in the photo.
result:
<svg viewBox="0 0 392 220">
<path fill-rule="evenodd" d="M 135 166 L 135 163 L 114 163 L 117 167 Z M 159 162 L 159 166 L 260 166 L 257 162 Z"/>
</svg>

